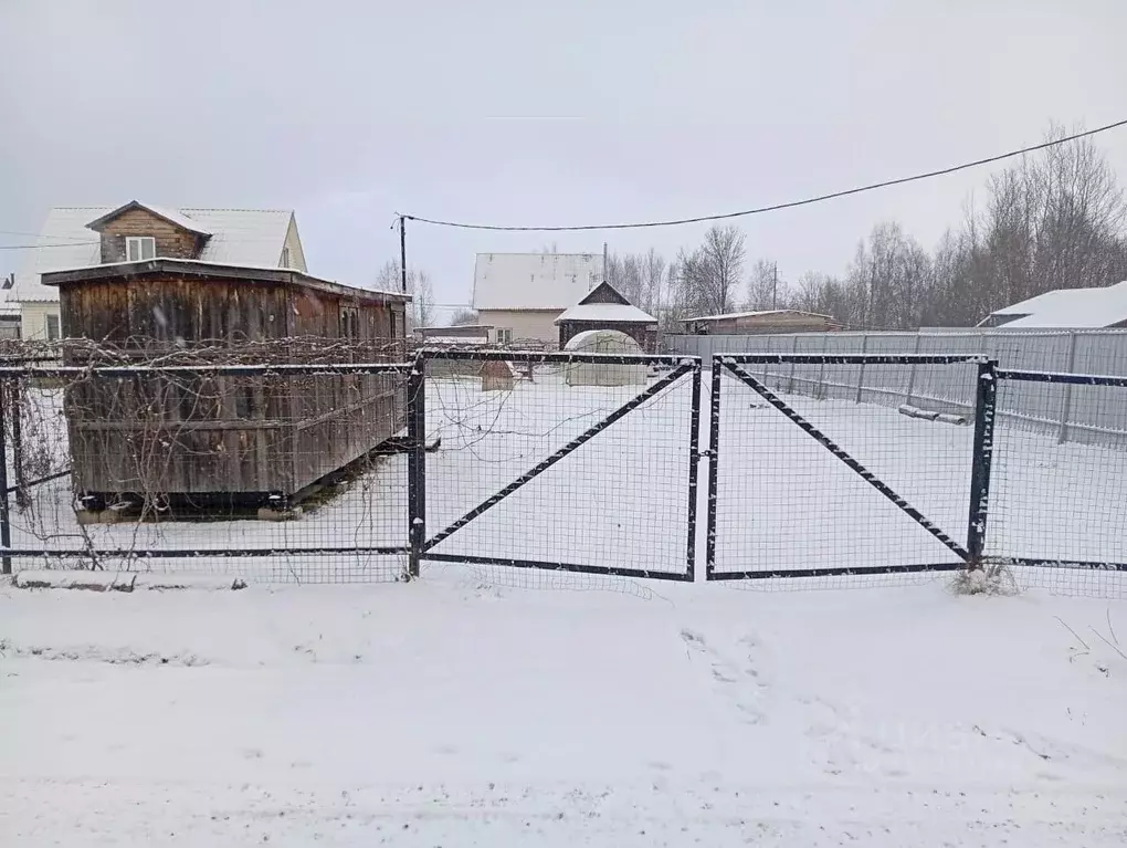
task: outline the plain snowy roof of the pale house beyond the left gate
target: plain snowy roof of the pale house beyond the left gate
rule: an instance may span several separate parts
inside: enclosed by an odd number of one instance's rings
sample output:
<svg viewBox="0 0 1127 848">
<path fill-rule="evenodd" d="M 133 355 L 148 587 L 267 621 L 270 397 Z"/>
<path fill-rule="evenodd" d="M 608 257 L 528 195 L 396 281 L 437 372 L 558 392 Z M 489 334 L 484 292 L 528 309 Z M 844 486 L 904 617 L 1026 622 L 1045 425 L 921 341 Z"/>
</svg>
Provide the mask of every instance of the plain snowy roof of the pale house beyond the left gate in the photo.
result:
<svg viewBox="0 0 1127 848">
<path fill-rule="evenodd" d="M 478 254 L 473 308 L 564 311 L 602 281 L 602 254 Z"/>
</svg>

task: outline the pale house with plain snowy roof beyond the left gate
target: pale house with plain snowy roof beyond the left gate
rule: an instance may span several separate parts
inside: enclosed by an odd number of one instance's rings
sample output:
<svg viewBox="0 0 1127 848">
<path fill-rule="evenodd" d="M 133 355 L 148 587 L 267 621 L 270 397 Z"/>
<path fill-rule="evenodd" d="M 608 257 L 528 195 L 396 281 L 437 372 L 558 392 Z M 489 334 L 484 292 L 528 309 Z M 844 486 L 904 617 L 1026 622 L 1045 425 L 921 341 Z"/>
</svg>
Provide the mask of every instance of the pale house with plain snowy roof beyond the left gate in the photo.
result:
<svg viewBox="0 0 1127 848">
<path fill-rule="evenodd" d="M 473 309 L 490 342 L 554 345 L 556 319 L 601 282 L 602 254 L 478 254 Z"/>
</svg>

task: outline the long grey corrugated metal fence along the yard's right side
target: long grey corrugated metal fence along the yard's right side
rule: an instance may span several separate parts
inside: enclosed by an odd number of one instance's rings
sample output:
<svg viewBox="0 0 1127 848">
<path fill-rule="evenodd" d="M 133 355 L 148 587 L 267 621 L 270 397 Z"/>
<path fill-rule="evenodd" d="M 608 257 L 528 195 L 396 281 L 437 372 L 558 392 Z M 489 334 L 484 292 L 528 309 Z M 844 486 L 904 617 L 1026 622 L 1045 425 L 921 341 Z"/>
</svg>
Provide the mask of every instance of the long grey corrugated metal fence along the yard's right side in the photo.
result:
<svg viewBox="0 0 1127 848">
<path fill-rule="evenodd" d="M 665 336 L 663 352 L 704 357 L 717 353 L 983 354 L 1003 369 L 1127 376 L 1127 330 L 922 330 L 920 333 L 804 333 L 795 335 Z M 944 365 L 765 366 L 763 376 L 787 391 L 826 399 L 971 413 L 970 369 Z M 1127 391 L 1107 387 L 1010 382 L 999 414 L 1011 424 L 1051 432 L 1061 441 L 1127 448 Z"/>
</svg>

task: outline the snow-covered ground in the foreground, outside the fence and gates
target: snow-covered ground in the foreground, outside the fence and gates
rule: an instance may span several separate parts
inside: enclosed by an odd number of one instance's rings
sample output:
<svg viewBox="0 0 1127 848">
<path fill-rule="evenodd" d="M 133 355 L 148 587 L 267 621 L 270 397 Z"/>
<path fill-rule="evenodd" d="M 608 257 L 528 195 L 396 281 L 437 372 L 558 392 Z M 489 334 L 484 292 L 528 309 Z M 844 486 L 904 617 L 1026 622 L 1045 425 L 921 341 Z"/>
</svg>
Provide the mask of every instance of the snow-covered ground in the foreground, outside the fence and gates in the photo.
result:
<svg viewBox="0 0 1127 848">
<path fill-rule="evenodd" d="M 630 585 L 0 589 L 0 843 L 1127 840 L 1121 604 Z"/>
</svg>

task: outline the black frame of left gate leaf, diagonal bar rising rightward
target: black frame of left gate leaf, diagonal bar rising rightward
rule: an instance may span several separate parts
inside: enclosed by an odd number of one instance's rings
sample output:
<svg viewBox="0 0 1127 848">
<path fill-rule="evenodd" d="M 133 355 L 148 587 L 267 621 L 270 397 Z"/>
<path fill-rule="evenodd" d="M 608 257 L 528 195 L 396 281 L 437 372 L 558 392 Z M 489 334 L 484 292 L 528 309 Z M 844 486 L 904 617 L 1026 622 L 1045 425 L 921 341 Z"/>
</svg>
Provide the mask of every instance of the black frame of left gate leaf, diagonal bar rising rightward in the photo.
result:
<svg viewBox="0 0 1127 848">
<path fill-rule="evenodd" d="M 601 363 L 619 365 L 666 365 L 672 370 L 648 386 L 637 396 L 593 424 L 551 456 L 544 458 L 500 491 L 494 493 L 449 527 L 434 536 L 427 536 L 426 529 L 426 401 L 424 386 L 426 381 L 426 363 L 429 360 L 455 360 L 470 362 L 522 362 L 531 364 L 568 364 Z M 411 522 L 411 554 L 409 573 L 418 576 L 419 564 L 424 560 L 438 563 L 474 563 L 481 565 L 503 565 L 517 568 L 543 568 L 548 571 L 578 572 L 580 574 L 605 574 L 620 577 L 637 577 L 649 580 L 667 580 L 693 582 L 695 578 L 696 546 L 696 497 L 698 497 L 698 460 L 700 459 L 700 388 L 701 360 L 698 356 L 663 356 L 635 355 L 618 356 L 598 353 L 526 353 L 516 351 L 454 351 L 424 350 L 418 354 L 416 368 L 408 380 L 408 441 L 412 445 L 408 477 L 408 505 Z M 689 432 L 689 478 L 687 519 L 689 531 L 685 550 L 684 572 L 657 572 L 641 568 L 619 568 L 612 565 L 592 563 L 549 562 L 541 559 L 521 559 L 515 557 L 494 557 L 465 554 L 440 554 L 434 547 L 453 533 L 472 522 L 486 511 L 496 506 L 530 480 L 536 478 L 569 453 L 582 448 L 596 435 L 610 427 L 614 422 L 625 417 L 647 400 L 665 391 L 686 374 L 692 377 L 691 422 Z"/>
</svg>

